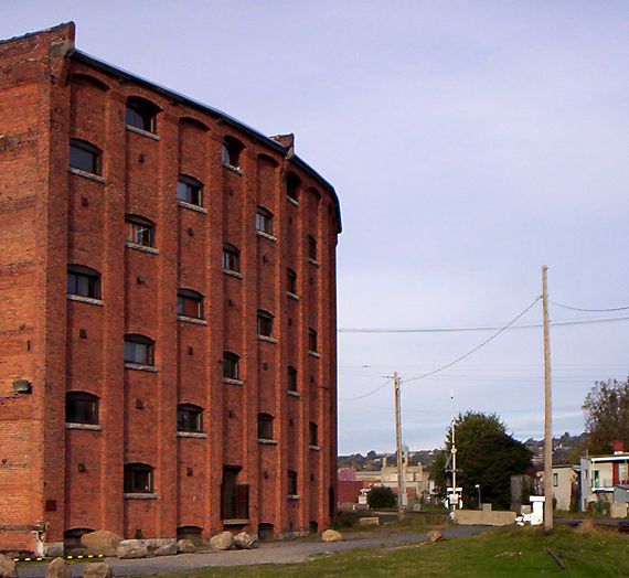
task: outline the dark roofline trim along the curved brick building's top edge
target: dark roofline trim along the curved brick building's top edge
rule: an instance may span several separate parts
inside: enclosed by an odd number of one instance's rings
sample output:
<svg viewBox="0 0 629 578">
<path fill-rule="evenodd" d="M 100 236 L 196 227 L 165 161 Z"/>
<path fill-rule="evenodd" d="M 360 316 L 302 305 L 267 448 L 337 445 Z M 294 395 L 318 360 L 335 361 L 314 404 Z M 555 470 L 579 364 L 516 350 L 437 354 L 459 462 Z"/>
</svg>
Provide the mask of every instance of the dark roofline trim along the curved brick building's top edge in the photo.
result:
<svg viewBox="0 0 629 578">
<path fill-rule="evenodd" d="M 248 125 L 245 125 L 244 122 L 236 120 L 234 117 L 223 113 L 222 110 L 218 110 L 217 108 L 211 107 L 209 105 L 204 105 L 203 103 L 200 103 L 199 100 L 194 100 L 193 98 L 184 96 L 181 93 L 178 93 L 177 90 L 172 90 L 170 88 L 166 88 L 163 86 L 160 86 L 159 84 L 154 84 L 150 81 L 147 81 L 146 78 L 142 78 L 141 76 L 137 76 L 136 74 L 132 74 L 128 71 L 125 71 L 122 68 L 114 66 L 113 64 L 108 64 L 104 61 L 95 58 L 94 56 L 90 56 L 89 54 L 86 54 L 85 52 L 82 52 L 79 50 L 76 50 L 76 49 L 73 50 L 72 52 L 70 52 L 67 57 L 71 60 L 77 61 L 77 62 L 86 63 L 90 66 L 94 66 L 95 68 L 98 68 L 99 71 L 105 72 L 106 74 L 117 76 L 118 78 L 125 78 L 125 79 L 131 81 L 136 84 L 139 84 L 140 86 L 149 88 L 150 90 L 154 90 L 156 93 L 169 98 L 170 100 L 180 101 L 180 103 L 182 103 L 182 104 L 184 104 L 191 108 L 200 110 L 201 113 L 216 117 L 216 118 L 221 119 L 223 122 L 247 133 L 249 137 L 254 138 L 255 140 L 259 141 L 260 143 L 265 144 L 266 147 L 269 147 L 269 148 L 276 150 L 277 152 L 280 152 L 286 159 L 286 154 L 288 153 L 289 149 L 287 149 L 286 147 L 282 147 L 279 142 L 273 140 L 271 138 L 267 137 L 266 135 L 258 132 L 256 129 L 249 127 Z M 338 233 L 341 233 L 341 231 L 342 231 L 341 205 L 340 205 L 339 196 L 337 195 L 337 191 L 334 190 L 334 188 L 326 179 L 323 179 L 323 176 L 321 176 L 314 169 L 312 169 L 312 167 L 310 167 L 307 162 L 301 160 L 299 157 L 294 156 L 290 159 L 286 159 L 286 160 L 295 163 L 297 167 L 302 169 L 311 178 L 313 178 L 316 181 L 318 181 L 319 184 L 321 184 L 323 188 L 326 188 L 327 191 L 332 195 L 332 200 L 334 201 L 334 207 L 337 210 Z"/>
</svg>

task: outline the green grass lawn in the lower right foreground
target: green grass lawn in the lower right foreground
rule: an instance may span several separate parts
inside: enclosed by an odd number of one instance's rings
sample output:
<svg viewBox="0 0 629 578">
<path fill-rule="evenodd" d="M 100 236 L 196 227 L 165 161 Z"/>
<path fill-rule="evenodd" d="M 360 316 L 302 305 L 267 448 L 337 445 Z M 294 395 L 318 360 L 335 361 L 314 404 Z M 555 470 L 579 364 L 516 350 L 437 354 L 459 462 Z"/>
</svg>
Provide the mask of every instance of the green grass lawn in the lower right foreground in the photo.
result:
<svg viewBox="0 0 629 578">
<path fill-rule="evenodd" d="M 563 560 L 562 570 L 546 547 Z M 551 536 L 540 528 L 508 527 L 471 538 L 414 546 L 353 550 L 319 556 L 299 565 L 260 565 L 185 572 L 205 577 L 299 576 L 629 576 L 629 538 L 611 531 L 557 527 Z M 174 575 L 173 575 L 174 576 Z M 183 576 L 183 575 L 179 575 Z"/>
</svg>

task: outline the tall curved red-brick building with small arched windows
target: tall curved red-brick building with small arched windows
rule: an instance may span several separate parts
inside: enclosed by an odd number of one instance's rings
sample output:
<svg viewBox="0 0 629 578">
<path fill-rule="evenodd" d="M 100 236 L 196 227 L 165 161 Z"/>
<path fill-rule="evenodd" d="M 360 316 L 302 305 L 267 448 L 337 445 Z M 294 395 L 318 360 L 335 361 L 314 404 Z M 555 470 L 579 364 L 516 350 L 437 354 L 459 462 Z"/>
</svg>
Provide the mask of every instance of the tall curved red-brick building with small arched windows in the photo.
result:
<svg viewBox="0 0 629 578">
<path fill-rule="evenodd" d="M 292 136 L 0 43 L 0 549 L 327 526 L 340 229 Z"/>
</svg>

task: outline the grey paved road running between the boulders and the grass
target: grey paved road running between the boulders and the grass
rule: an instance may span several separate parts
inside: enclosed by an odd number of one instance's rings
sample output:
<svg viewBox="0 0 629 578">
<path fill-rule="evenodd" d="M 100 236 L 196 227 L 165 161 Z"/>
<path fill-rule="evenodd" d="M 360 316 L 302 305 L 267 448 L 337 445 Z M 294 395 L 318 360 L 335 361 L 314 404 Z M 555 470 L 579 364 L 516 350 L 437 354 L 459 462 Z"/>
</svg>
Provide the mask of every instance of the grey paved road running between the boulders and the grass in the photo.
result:
<svg viewBox="0 0 629 578">
<path fill-rule="evenodd" d="M 454 526 L 443 529 L 444 537 L 466 537 L 478 534 L 482 526 Z M 376 548 L 381 546 L 396 546 L 425 542 L 425 533 L 375 535 L 370 537 L 352 538 L 343 542 L 323 543 L 310 540 L 273 542 L 263 544 L 255 550 L 211 552 L 199 554 L 180 554 L 159 558 L 142 558 L 139 560 L 119 560 L 107 558 L 116 576 L 151 575 L 166 572 L 185 572 L 207 567 L 249 566 L 254 564 L 296 564 L 307 560 L 314 554 L 332 554 L 355 548 Z M 20 578 L 43 578 L 47 565 L 19 566 Z M 83 576 L 83 565 L 71 565 L 72 576 Z"/>
</svg>

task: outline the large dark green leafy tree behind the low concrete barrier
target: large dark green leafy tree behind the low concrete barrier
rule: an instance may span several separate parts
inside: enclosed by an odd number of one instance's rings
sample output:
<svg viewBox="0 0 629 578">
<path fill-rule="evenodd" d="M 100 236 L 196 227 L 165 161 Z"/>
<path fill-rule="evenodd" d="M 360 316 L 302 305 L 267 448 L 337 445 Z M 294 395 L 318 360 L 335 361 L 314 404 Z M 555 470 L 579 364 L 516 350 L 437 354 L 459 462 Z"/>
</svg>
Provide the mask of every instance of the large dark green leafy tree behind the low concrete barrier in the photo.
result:
<svg viewBox="0 0 629 578">
<path fill-rule="evenodd" d="M 463 503 L 476 503 L 480 484 L 483 502 L 508 507 L 511 502 L 511 475 L 531 468 L 531 451 L 524 443 L 507 434 L 507 427 L 495 414 L 468 411 L 456 418 L 457 485 L 463 489 Z M 441 495 L 450 485 L 451 431 L 446 447 L 435 458 L 433 471 Z"/>
</svg>

